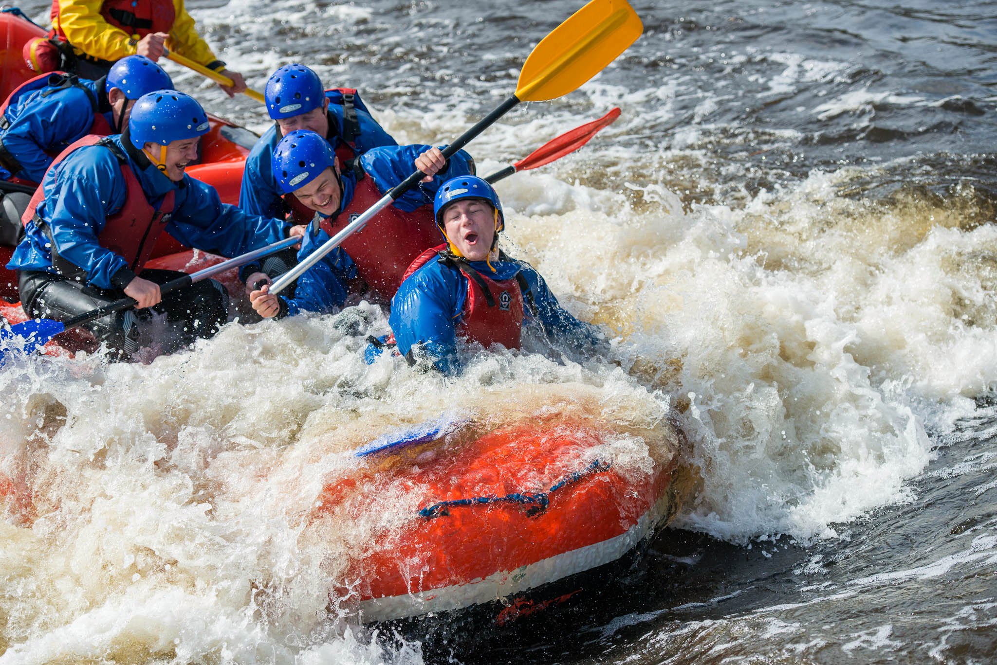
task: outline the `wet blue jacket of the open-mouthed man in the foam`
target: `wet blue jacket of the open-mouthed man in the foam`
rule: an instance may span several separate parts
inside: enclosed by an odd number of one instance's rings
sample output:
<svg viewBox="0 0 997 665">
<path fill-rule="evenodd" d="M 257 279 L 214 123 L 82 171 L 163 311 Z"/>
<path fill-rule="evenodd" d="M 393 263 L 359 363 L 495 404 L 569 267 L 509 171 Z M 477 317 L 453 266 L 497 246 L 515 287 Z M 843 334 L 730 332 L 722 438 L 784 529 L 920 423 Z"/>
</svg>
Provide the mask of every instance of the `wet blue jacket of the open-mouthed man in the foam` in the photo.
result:
<svg viewBox="0 0 997 665">
<path fill-rule="evenodd" d="M 583 352 L 599 352 L 604 348 L 605 341 L 598 329 L 565 311 L 531 265 L 500 254 L 491 267 L 487 261 L 465 261 L 464 269 L 459 269 L 445 260 L 429 260 L 402 282 L 391 301 L 388 322 L 399 353 L 410 362 L 419 353 L 444 374 L 460 371 L 458 329 L 468 315 L 467 301 L 474 290 L 469 274 L 472 278 L 475 275 L 469 270 L 487 276 L 489 282 L 517 285 L 516 297 L 525 305 L 523 324 L 539 326 L 550 341 Z M 368 348 L 368 361 L 376 355 L 378 350 Z"/>
</svg>

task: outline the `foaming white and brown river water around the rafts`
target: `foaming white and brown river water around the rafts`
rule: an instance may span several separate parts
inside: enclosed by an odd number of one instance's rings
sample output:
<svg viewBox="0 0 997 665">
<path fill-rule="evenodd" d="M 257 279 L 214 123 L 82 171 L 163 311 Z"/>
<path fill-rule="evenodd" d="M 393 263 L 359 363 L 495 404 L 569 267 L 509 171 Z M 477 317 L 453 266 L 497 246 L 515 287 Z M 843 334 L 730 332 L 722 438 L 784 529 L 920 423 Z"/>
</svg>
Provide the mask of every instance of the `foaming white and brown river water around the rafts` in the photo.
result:
<svg viewBox="0 0 997 665">
<path fill-rule="evenodd" d="M 45 3 L 28 5 L 34 17 Z M 446 143 L 580 3 L 188 3 L 262 88 L 289 61 Z M 506 249 L 612 358 L 364 365 L 377 307 L 227 326 L 149 364 L 0 371 L 0 663 L 991 662 L 997 654 L 997 18 L 984 0 L 638 2 L 644 35 L 469 148 L 483 172 L 614 106 L 498 185 Z M 258 106 L 168 68 L 255 131 Z M 613 362 L 615 361 L 615 362 Z M 327 611 L 343 556 L 411 506 L 309 528 L 321 479 L 394 423 L 557 411 L 677 454 L 674 523 L 569 601 L 497 626 Z M 643 447 L 643 448 L 641 448 Z M 572 587 L 573 590 L 574 587 Z"/>
</svg>

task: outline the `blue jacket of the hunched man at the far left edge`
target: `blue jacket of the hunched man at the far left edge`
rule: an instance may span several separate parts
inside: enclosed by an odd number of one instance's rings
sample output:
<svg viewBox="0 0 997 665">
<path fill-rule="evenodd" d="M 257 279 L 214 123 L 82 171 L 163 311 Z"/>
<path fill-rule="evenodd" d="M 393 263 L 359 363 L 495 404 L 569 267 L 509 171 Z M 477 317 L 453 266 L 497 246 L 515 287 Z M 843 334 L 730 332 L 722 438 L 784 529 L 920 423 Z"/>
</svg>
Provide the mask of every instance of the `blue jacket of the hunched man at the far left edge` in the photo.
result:
<svg viewBox="0 0 997 665">
<path fill-rule="evenodd" d="M 38 79 L 13 96 L 0 120 L 2 179 L 17 176 L 41 182 L 55 157 L 71 144 L 88 134 L 112 134 L 114 114 L 105 79 L 52 76 L 58 85 Z"/>
</svg>

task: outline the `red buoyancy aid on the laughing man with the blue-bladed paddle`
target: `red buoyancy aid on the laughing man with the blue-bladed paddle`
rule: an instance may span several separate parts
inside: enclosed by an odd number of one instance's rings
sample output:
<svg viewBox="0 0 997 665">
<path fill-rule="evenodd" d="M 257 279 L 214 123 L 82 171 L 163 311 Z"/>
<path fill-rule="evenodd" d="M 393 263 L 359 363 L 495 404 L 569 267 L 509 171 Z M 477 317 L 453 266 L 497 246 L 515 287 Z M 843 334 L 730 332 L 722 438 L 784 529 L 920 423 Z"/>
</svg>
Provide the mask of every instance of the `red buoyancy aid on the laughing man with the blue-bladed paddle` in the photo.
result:
<svg viewBox="0 0 997 665">
<path fill-rule="evenodd" d="M 143 191 L 142 184 L 139 183 L 139 178 L 136 177 L 132 167 L 129 166 L 128 158 L 125 154 L 114 144 L 101 143 L 103 140 L 104 137 L 95 135 L 80 139 L 60 153 L 59 157 L 52 163 L 52 166 L 49 166 L 49 170 L 45 171 L 45 173 L 47 175 L 60 162 L 69 157 L 70 153 L 85 146 L 101 145 L 115 155 L 118 165 L 121 167 L 122 177 L 125 178 L 125 203 L 118 212 L 107 217 L 107 222 L 104 224 L 100 235 L 97 236 L 97 241 L 105 249 L 110 249 L 122 256 L 128 261 L 129 267 L 136 274 L 139 274 L 153 253 L 156 241 L 169 221 L 169 215 L 173 211 L 174 192 L 172 189 L 167 191 L 159 208 L 154 207 L 150 204 L 149 199 L 146 198 L 146 192 Z M 38 187 L 35 194 L 31 197 L 31 201 L 28 203 L 28 208 L 21 217 L 22 223 L 27 224 L 32 219 L 36 219 L 36 223 L 45 223 L 36 212 L 38 204 L 44 199 L 45 193 L 42 187 Z M 53 265 L 55 265 L 55 247 L 52 248 L 52 253 Z"/>
</svg>

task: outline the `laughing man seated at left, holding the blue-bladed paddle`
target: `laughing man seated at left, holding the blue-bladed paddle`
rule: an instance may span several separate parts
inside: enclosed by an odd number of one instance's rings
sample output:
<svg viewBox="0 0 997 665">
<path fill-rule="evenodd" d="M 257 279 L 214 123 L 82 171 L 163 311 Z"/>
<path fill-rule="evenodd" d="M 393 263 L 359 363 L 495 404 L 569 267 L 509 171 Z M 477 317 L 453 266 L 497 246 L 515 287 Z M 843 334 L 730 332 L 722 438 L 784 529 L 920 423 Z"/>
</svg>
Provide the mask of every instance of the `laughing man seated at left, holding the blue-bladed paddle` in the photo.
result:
<svg viewBox="0 0 997 665">
<path fill-rule="evenodd" d="M 124 135 L 87 137 L 56 159 L 25 212 L 25 237 L 7 265 L 19 271 L 29 315 L 65 320 L 129 296 L 139 309 L 159 305 L 184 342 L 209 337 L 227 320 L 227 293 L 218 282 L 164 298 L 160 284 L 178 273 L 143 270 L 164 230 L 224 256 L 283 237 L 281 220 L 226 205 L 212 186 L 184 173 L 207 131 L 207 116 L 193 98 L 161 90 L 135 104 Z M 133 352 L 141 319 L 128 310 L 89 328 L 112 348 Z"/>
</svg>

